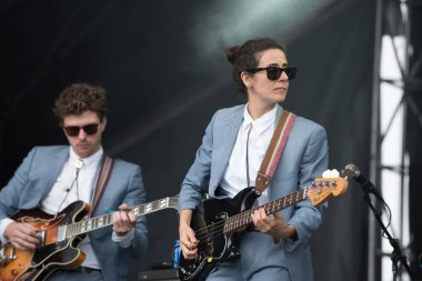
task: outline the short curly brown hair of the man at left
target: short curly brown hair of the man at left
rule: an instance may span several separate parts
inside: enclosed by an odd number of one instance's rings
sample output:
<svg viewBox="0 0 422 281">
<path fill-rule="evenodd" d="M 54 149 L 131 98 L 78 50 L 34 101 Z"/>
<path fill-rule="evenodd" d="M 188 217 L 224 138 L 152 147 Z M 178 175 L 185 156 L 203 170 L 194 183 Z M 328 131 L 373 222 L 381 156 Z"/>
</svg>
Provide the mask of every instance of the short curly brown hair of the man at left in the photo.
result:
<svg viewBox="0 0 422 281">
<path fill-rule="evenodd" d="M 60 124 L 63 124 L 67 116 L 79 116 L 88 110 L 96 112 L 102 120 L 107 113 L 105 89 L 89 83 L 72 83 L 61 91 L 52 110 Z"/>
</svg>

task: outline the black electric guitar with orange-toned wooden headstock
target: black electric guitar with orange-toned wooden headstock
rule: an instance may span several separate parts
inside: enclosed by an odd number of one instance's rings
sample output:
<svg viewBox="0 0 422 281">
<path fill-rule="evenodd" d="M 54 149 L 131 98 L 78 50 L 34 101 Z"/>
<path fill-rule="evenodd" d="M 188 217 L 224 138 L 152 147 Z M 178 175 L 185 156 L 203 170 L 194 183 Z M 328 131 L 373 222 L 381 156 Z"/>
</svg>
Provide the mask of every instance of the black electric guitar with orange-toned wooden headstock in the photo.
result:
<svg viewBox="0 0 422 281">
<path fill-rule="evenodd" d="M 344 193 L 346 189 L 348 181 L 344 178 L 318 178 L 310 187 L 254 209 L 251 208 L 259 197 L 254 188 L 242 190 L 233 199 L 205 200 L 204 214 L 194 211 L 191 221 L 199 241 L 198 254 L 193 260 L 185 260 L 180 253 L 180 280 L 205 280 L 217 263 L 239 259 L 241 233 L 252 227 L 251 214 L 254 210 L 264 208 L 267 214 L 272 214 L 305 199 L 316 207 L 331 195 Z"/>
</svg>

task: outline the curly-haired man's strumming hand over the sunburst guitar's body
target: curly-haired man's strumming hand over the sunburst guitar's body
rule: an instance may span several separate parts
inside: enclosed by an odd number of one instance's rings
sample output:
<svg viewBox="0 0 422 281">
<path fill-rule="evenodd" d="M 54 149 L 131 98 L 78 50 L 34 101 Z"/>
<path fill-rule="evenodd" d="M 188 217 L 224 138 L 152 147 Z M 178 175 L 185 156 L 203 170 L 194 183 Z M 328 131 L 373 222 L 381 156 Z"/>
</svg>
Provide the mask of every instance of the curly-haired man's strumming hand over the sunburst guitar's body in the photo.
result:
<svg viewBox="0 0 422 281">
<path fill-rule="evenodd" d="M 36 230 L 27 223 L 11 222 L 4 230 L 4 237 L 19 250 L 33 250 L 40 244 Z"/>
</svg>

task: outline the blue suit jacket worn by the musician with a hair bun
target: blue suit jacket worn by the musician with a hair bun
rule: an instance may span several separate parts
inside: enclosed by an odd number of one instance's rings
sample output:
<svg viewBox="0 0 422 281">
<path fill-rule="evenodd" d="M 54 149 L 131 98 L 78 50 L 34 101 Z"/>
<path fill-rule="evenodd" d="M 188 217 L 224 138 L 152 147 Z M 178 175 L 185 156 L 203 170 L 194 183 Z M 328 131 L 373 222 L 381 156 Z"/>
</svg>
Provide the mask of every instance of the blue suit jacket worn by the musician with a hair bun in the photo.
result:
<svg viewBox="0 0 422 281">
<path fill-rule="evenodd" d="M 195 209 L 200 205 L 203 193 L 215 197 L 243 121 L 243 111 L 244 104 L 219 110 L 213 116 L 195 160 L 182 183 L 179 210 Z M 275 122 L 282 111 L 278 106 Z M 322 177 L 328 168 L 328 160 L 325 130 L 315 122 L 298 117 L 269 187 L 269 200 L 310 185 L 312 180 Z M 292 280 L 313 279 L 309 241 L 321 224 L 324 207 L 326 204 L 314 208 L 309 200 L 304 200 L 281 211 L 287 222 L 295 228 L 299 238 L 297 241 L 282 240 L 280 243 L 280 250 L 284 251 L 288 263 L 282 265 L 289 268 Z M 265 268 L 265 260 L 269 258 L 265 249 L 255 252 L 255 258 Z"/>
</svg>

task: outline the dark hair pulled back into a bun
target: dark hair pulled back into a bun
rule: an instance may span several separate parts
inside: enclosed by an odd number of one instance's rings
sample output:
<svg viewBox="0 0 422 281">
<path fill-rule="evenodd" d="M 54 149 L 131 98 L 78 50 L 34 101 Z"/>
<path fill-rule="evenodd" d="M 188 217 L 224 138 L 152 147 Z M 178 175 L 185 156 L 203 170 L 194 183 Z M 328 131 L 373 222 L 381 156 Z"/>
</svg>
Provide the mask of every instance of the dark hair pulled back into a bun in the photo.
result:
<svg viewBox="0 0 422 281">
<path fill-rule="evenodd" d="M 244 96 L 247 96 L 247 87 L 243 84 L 240 73 L 255 68 L 260 59 L 259 53 L 269 49 L 280 49 L 284 52 L 283 47 L 271 38 L 251 39 L 241 47 L 233 46 L 225 50 L 227 60 L 233 64 L 232 79 Z"/>
</svg>

